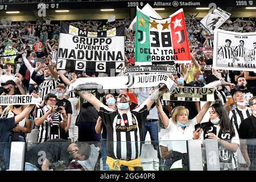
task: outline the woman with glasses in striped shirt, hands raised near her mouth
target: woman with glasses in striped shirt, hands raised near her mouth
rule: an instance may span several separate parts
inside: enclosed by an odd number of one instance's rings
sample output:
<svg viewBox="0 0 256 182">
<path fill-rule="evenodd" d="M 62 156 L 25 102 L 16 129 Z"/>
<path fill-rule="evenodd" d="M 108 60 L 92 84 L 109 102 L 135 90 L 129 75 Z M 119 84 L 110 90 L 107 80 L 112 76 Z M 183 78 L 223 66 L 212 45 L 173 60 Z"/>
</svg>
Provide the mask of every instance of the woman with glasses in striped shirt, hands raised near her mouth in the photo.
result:
<svg viewBox="0 0 256 182">
<path fill-rule="evenodd" d="M 55 94 L 48 93 L 44 97 L 43 108 L 35 115 L 35 125 L 39 127 L 38 142 L 60 138 L 60 127 L 65 129 L 67 114 L 63 106 L 56 106 Z"/>
</svg>

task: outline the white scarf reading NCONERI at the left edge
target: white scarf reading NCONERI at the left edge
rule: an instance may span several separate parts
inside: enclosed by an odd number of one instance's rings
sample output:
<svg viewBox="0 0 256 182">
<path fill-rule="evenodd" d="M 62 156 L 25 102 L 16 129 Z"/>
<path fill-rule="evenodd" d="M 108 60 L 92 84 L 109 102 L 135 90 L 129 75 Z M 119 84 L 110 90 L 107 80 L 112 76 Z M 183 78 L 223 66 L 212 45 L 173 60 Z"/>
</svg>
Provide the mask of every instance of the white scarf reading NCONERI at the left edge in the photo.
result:
<svg viewBox="0 0 256 182">
<path fill-rule="evenodd" d="M 41 98 L 29 95 L 0 96 L 0 105 L 29 105 L 40 104 Z"/>
</svg>

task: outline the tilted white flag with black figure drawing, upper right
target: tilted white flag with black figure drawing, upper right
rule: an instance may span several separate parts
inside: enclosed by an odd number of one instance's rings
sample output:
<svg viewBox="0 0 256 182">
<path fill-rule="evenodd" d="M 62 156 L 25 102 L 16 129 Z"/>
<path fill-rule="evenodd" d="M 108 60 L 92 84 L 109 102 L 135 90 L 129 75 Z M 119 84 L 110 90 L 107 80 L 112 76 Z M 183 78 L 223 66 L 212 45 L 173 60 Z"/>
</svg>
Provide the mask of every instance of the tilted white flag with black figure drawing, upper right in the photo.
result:
<svg viewBox="0 0 256 182">
<path fill-rule="evenodd" d="M 228 13 L 222 10 L 220 7 L 217 7 L 217 9 L 204 16 L 204 18 L 200 21 L 200 26 L 204 28 L 204 30 L 209 35 L 212 35 L 214 29 L 220 27 L 221 24 L 226 22 L 226 20 L 229 19 L 231 15 L 231 13 Z"/>
</svg>

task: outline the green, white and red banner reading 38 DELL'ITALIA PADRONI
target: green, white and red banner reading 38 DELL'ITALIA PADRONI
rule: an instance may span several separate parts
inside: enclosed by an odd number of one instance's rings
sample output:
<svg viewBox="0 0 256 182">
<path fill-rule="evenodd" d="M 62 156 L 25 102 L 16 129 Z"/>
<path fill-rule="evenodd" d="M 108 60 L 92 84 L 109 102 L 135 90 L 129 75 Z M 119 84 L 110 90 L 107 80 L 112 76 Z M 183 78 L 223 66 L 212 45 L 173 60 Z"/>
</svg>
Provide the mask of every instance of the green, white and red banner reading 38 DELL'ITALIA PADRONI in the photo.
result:
<svg viewBox="0 0 256 182">
<path fill-rule="evenodd" d="M 183 9 L 154 19 L 137 9 L 135 65 L 190 63 Z"/>
</svg>

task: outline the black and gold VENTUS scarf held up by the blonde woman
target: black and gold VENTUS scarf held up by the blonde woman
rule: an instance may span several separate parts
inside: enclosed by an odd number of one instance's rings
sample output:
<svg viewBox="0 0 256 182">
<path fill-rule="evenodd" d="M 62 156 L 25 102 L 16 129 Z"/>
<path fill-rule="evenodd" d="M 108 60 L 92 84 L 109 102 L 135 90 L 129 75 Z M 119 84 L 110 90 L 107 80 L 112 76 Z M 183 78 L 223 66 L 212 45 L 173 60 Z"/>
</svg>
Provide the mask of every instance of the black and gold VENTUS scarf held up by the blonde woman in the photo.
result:
<svg viewBox="0 0 256 182">
<path fill-rule="evenodd" d="M 163 94 L 166 101 L 214 101 L 214 88 L 177 86 L 174 91 Z"/>
</svg>

